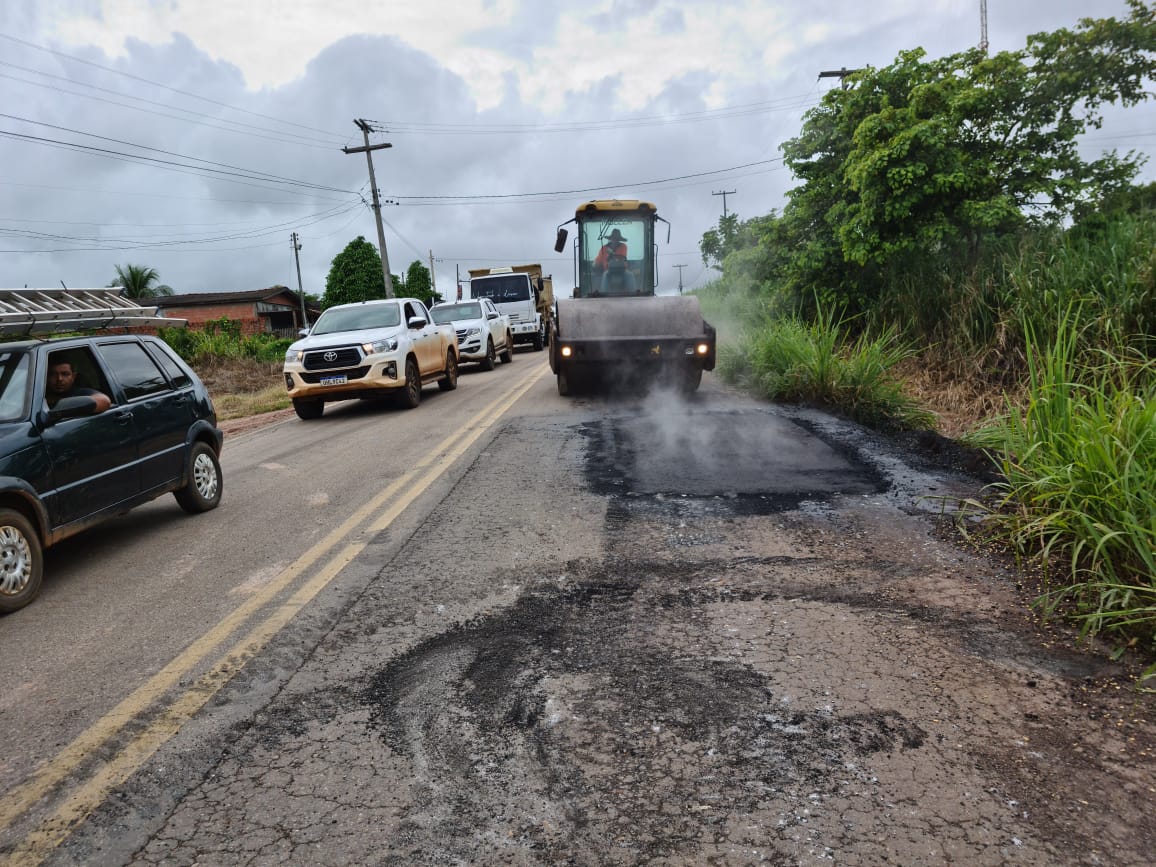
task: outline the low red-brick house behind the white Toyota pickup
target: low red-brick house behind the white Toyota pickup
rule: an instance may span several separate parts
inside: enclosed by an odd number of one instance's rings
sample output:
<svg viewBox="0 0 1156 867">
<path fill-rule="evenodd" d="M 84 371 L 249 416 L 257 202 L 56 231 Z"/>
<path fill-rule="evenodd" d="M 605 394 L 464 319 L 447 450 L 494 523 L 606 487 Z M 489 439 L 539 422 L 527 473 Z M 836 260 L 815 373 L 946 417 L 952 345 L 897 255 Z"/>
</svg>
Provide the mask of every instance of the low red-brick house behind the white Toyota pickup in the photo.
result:
<svg viewBox="0 0 1156 867">
<path fill-rule="evenodd" d="M 243 334 L 271 333 L 296 338 L 302 321 L 301 296 L 283 286 L 240 292 L 185 292 L 165 295 L 143 302 L 157 307 L 157 313 L 171 319 L 187 319 L 190 328 L 203 328 L 214 319 L 240 323 Z M 306 299 L 310 323 L 320 316 L 320 307 Z"/>
</svg>

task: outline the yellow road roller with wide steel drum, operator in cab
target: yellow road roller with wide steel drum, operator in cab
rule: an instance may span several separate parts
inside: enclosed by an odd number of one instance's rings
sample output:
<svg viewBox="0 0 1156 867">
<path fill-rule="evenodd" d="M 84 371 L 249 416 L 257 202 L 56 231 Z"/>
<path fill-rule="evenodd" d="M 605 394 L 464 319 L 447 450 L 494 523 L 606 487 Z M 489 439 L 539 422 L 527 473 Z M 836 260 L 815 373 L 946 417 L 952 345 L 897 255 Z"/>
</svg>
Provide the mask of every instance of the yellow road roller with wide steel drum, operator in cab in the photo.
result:
<svg viewBox="0 0 1156 867">
<path fill-rule="evenodd" d="M 558 227 L 555 251 L 573 240 L 571 298 L 560 298 L 550 369 L 558 394 L 595 384 L 610 388 L 669 385 L 698 388 L 714 369 L 714 328 L 691 295 L 659 296 L 655 224 L 666 222 L 651 202 L 595 200 Z M 669 223 L 667 223 L 669 242 Z"/>
</svg>

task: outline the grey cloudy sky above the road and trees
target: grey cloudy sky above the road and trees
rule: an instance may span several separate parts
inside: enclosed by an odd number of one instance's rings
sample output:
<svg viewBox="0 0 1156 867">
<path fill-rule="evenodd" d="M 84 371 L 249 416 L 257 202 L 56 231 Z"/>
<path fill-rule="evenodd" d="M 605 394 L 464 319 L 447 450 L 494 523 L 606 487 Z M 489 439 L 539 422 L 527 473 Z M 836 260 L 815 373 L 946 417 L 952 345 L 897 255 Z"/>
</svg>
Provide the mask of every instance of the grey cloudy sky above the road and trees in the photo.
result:
<svg viewBox="0 0 1156 867">
<path fill-rule="evenodd" d="M 979 0 L 2 0 L 0 287 L 297 287 L 376 244 L 355 119 L 371 121 L 391 271 L 443 295 L 470 267 L 542 262 L 591 198 L 672 223 L 660 292 L 709 281 L 724 206 L 779 208 L 779 146 L 835 77 L 980 37 Z M 988 0 L 992 51 L 1124 0 Z M 1156 150 L 1150 105 L 1088 148 Z M 1144 179 L 1156 177 L 1148 165 Z M 726 197 L 722 192 L 728 193 Z M 665 240 L 665 238 L 664 238 Z M 681 268 L 676 266 L 683 266 Z"/>
</svg>

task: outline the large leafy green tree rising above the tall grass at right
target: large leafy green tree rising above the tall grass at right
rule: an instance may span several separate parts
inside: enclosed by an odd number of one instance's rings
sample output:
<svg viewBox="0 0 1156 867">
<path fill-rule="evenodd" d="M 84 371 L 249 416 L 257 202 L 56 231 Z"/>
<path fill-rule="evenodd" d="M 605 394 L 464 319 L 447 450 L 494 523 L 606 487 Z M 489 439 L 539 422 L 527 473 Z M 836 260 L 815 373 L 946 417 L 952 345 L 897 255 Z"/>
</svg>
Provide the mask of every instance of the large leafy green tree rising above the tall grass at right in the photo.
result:
<svg viewBox="0 0 1156 867">
<path fill-rule="evenodd" d="M 1126 187 L 1141 157 L 1085 161 L 1077 136 L 1105 104 L 1150 96 L 1156 17 L 1141 0 L 1128 6 L 1125 21 L 1084 18 L 991 58 L 903 52 L 830 91 L 784 144 L 802 181 L 784 212 L 802 238 L 795 288 L 869 306 L 905 264 L 943 253 L 973 264 L 985 238 L 1060 222 Z"/>
</svg>

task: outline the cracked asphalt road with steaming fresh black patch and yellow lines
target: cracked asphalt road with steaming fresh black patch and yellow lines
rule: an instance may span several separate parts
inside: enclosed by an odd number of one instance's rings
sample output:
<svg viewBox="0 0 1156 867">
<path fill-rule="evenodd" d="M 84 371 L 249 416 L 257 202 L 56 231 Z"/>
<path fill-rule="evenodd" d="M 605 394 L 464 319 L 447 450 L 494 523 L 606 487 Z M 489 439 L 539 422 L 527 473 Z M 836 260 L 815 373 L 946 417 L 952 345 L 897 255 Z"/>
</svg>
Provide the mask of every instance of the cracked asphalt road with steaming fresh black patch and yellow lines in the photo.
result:
<svg viewBox="0 0 1156 867">
<path fill-rule="evenodd" d="M 818 413 L 554 391 L 227 439 L 0 621 L 10 864 L 1141 865 L 1150 696 Z"/>
</svg>

